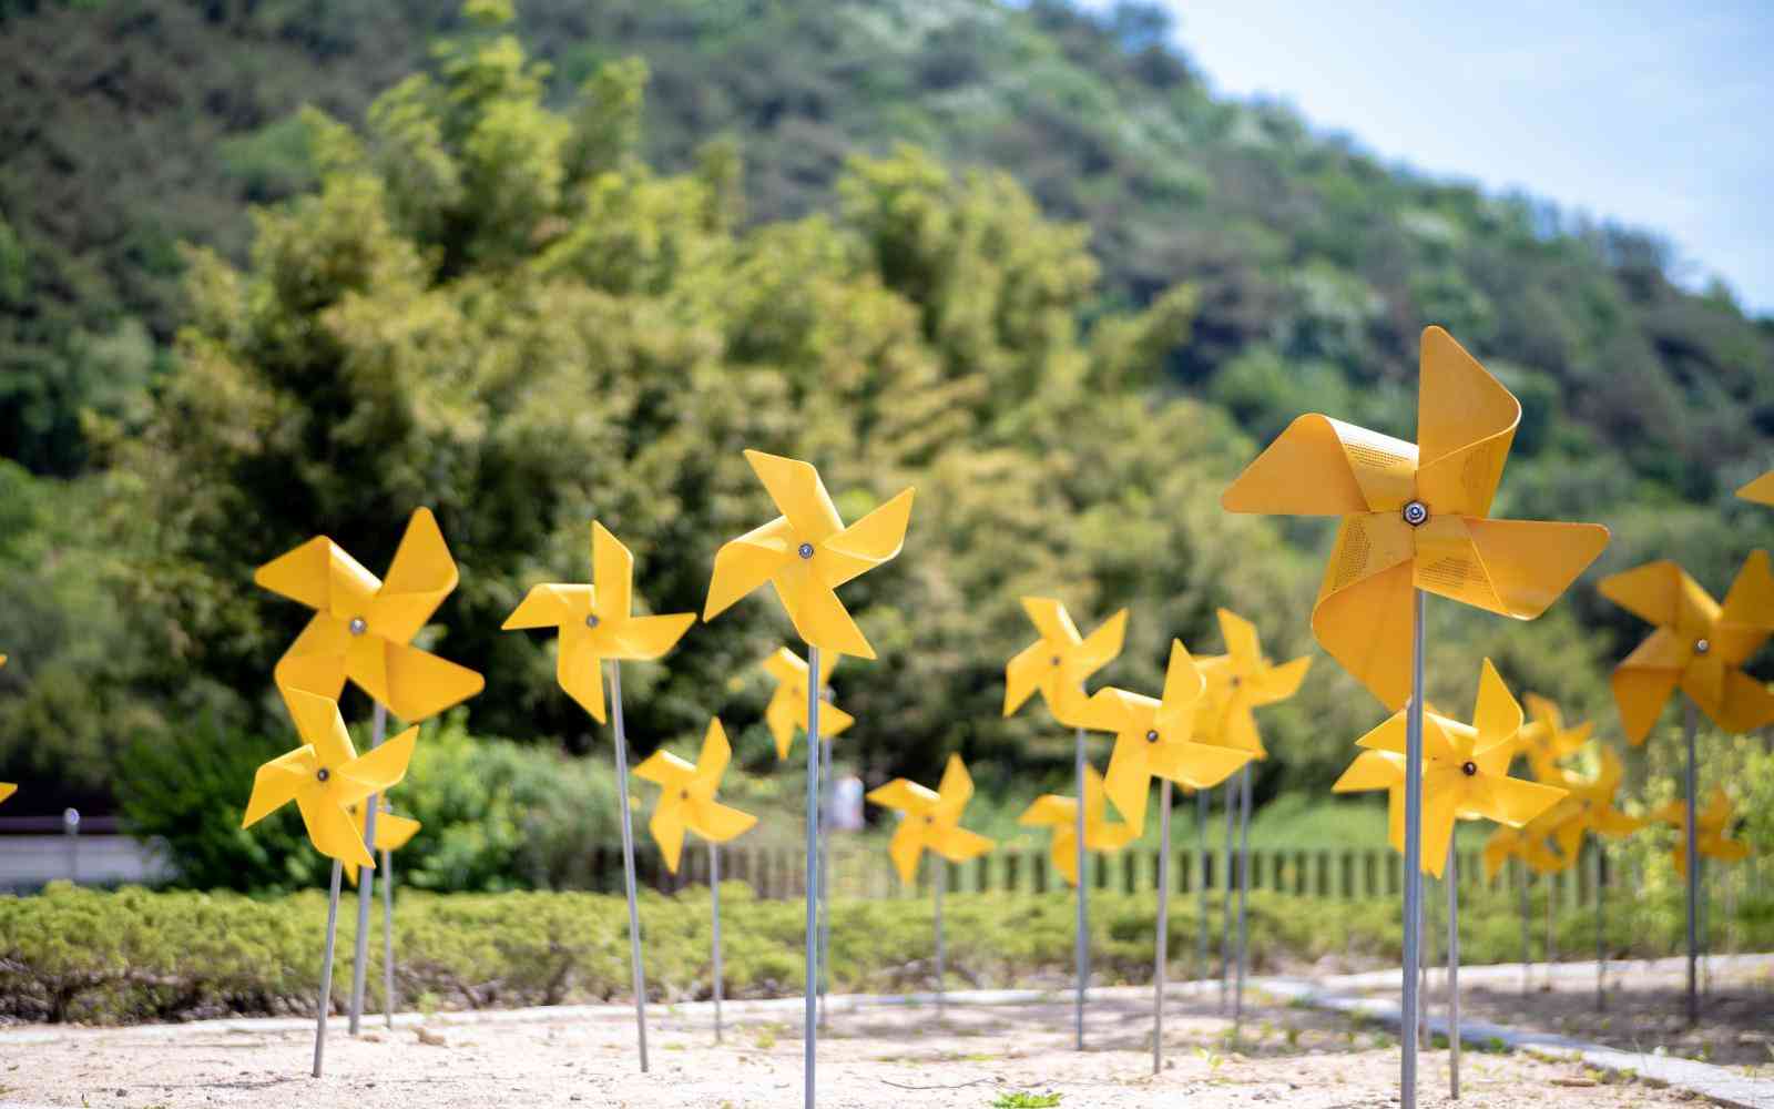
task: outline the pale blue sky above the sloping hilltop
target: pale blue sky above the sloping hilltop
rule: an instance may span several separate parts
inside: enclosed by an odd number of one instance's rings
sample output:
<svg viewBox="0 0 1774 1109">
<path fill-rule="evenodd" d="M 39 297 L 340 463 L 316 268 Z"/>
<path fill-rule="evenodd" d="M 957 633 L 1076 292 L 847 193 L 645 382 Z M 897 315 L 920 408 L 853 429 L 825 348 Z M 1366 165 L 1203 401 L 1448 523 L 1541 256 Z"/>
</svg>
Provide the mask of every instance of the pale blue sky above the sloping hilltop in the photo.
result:
<svg viewBox="0 0 1774 1109">
<path fill-rule="evenodd" d="M 1650 229 L 1774 314 L 1774 4 L 1164 4 L 1213 89 Z"/>
</svg>

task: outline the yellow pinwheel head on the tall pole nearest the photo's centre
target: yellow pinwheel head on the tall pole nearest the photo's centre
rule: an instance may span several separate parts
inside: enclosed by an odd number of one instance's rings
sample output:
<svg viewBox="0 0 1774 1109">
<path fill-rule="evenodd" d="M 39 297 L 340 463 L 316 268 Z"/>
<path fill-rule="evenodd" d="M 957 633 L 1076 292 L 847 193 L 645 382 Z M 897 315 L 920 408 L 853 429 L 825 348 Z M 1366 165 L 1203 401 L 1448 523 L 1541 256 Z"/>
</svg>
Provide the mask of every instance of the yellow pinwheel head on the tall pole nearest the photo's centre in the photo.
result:
<svg viewBox="0 0 1774 1109">
<path fill-rule="evenodd" d="M 862 628 L 837 600 L 837 587 L 899 554 L 912 520 L 912 490 L 844 527 L 811 465 L 763 451 L 747 451 L 745 460 L 782 515 L 715 552 L 703 619 L 770 582 L 804 642 L 875 658 Z"/>
</svg>

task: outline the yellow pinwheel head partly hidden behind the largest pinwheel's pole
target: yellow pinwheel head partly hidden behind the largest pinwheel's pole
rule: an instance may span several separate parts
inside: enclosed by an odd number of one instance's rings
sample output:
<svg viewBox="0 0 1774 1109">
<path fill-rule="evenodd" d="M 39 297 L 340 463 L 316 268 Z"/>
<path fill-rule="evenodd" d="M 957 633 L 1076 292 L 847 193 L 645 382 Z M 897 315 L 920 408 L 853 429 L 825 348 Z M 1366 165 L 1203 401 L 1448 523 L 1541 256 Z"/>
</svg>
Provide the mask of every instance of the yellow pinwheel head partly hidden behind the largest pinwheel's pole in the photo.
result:
<svg viewBox="0 0 1774 1109">
<path fill-rule="evenodd" d="M 1361 740 L 1368 751 L 1405 752 L 1405 712 L 1400 710 Z M 1485 660 L 1472 724 L 1425 708 L 1423 713 L 1423 869 L 1440 877 L 1455 820 L 1494 820 L 1522 827 L 1565 797 L 1565 790 L 1510 777 L 1522 706 L 1497 667 Z M 1403 767 L 1400 767 L 1403 772 Z M 1403 806 L 1391 806 L 1391 841 L 1405 850 Z"/>
</svg>

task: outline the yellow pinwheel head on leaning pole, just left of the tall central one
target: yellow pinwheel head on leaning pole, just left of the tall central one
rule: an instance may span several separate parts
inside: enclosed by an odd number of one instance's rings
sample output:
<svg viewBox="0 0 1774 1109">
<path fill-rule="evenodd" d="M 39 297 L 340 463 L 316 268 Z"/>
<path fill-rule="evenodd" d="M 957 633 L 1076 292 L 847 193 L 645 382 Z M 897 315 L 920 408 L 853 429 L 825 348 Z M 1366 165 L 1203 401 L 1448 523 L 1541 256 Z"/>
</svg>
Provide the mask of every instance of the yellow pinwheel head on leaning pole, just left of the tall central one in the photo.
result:
<svg viewBox="0 0 1774 1109">
<path fill-rule="evenodd" d="M 605 724 L 603 660 L 658 658 L 695 623 L 695 614 L 633 616 L 635 555 L 596 520 L 591 578 L 591 586 L 532 586 L 502 628 L 557 628 L 555 680 L 593 720 Z"/>
</svg>

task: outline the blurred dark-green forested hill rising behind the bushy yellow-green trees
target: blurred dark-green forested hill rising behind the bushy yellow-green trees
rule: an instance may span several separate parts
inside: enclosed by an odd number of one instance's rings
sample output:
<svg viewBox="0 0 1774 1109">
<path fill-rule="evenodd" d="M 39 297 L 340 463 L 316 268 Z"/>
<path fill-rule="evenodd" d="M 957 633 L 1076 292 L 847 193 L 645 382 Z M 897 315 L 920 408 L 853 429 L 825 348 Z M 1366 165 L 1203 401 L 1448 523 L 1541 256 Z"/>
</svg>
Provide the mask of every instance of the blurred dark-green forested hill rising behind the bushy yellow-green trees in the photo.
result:
<svg viewBox="0 0 1774 1109">
<path fill-rule="evenodd" d="M 459 25 L 401 0 L 0 4 L 0 452 L 83 465 L 78 412 L 126 412 L 179 323 L 177 243 L 241 257 L 248 204 L 314 183 L 293 112 L 355 121 Z M 564 101 L 651 69 L 648 144 L 740 140 L 754 220 L 832 204 L 855 151 L 915 142 L 1015 174 L 1093 231 L 1107 296 L 1190 280 L 1171 357 L 1256 435 L 1300 408 L 1409 426 L 1414 339 L 1448 325 L 1531 410 L 1575 497 L 1712 499 L 1769 456 L 1774 332 L 1669 279 L 1653 236 L 1384 165 L 1277 106 L 1215 99 L 1155 5 L 1040 0 L 525 0 Z M 1357 137 L 1359 138 L 1359 137 Z M 1522 176 L 1531 177 L 1531 170 Z M 1380 385 L 1380 387 L 1375 387 Z M 1526 506 L 1524 506 L 1526 507 Z"/>
</svg>

